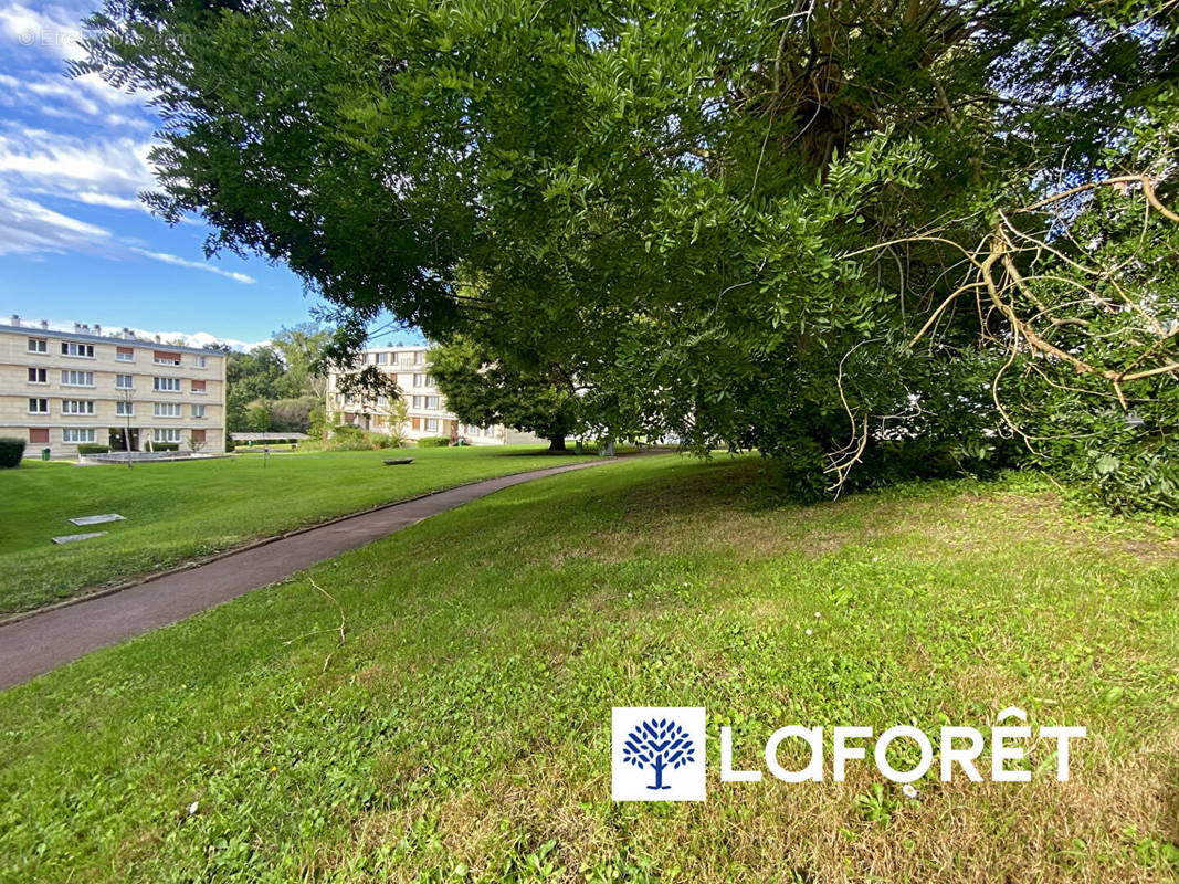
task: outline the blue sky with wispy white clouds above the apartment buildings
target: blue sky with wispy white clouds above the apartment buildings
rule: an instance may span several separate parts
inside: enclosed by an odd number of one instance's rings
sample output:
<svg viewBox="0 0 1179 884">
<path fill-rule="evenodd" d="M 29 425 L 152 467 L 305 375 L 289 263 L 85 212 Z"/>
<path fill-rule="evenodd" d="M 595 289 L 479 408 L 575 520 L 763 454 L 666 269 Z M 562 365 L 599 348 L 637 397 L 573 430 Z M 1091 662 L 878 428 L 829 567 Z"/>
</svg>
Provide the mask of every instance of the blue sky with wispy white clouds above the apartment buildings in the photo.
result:
<svg viewBox="0 0 1179 884">
<path fill-rule="evenodd" d="M 316 301 L 285 266 L 206 260 L 203 222 L 170 227 L 138 200 L 157 118 L 139 95 L 64 75 L 92 8 L 0 0 L 0 322 L 256 343 L 309 319 Z"/>
</svg>

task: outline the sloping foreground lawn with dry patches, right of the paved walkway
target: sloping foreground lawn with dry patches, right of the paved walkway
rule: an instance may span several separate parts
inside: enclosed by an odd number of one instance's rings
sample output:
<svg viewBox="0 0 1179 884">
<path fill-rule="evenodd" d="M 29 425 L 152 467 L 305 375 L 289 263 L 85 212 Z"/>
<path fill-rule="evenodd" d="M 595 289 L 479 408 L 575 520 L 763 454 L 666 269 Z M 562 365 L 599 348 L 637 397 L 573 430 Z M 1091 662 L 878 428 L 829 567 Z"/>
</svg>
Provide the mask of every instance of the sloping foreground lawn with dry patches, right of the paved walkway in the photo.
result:
<svg viewBox="0 0 1179 884">
<path fill-rule="evenodd" d="M 1026 480 L 756 510 L 757 466 L 532 482 L 0 694 L 0 879 L 1175 879 L 1173 527 Z M 707 708 L 706 801 L 611 801 L 615 705 Z M 722 725 L 762 768 L 786 724 L 1009 705 L 1088 728 L 1072 781 L 1052 741 L 916 799 L 719 781 Z"/>
</svg>

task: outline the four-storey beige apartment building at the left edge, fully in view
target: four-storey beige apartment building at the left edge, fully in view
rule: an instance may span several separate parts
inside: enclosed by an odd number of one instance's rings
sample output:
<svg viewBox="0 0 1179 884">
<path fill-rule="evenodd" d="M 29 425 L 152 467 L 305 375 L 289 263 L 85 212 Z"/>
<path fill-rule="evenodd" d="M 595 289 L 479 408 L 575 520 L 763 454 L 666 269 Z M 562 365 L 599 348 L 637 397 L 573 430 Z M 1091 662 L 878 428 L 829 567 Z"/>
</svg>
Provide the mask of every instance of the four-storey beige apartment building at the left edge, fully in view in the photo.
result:
<svg viewBox="0 0 1179 884">
<path fill-rule="evenodd" d="M 0 436 L 73 457 L 80 444 L 225 450 L 225 354 L 13 316 L 0 324 Z"/>
</svg>

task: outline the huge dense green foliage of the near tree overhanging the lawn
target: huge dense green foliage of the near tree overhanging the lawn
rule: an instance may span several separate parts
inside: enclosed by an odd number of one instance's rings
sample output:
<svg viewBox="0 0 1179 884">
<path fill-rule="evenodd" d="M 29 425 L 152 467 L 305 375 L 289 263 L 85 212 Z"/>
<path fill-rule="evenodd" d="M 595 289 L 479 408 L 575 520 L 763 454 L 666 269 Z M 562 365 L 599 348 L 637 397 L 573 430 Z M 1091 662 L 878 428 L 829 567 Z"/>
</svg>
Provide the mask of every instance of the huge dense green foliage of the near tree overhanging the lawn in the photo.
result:
<svg viewBox="0 0 1179 884">
<path fill-rule="evenodd" d="M 1013 463 L 1179 506 L 1168 0 L 108 0 L 153 205 L 802 494 Z M 1106 182 L 1107 184 L 1098 184 Z M 1072 190 L 1080 187 L 1080 190 Z M 1042 202 L 1046 194 L 1068 196 Z"/>
</svg>

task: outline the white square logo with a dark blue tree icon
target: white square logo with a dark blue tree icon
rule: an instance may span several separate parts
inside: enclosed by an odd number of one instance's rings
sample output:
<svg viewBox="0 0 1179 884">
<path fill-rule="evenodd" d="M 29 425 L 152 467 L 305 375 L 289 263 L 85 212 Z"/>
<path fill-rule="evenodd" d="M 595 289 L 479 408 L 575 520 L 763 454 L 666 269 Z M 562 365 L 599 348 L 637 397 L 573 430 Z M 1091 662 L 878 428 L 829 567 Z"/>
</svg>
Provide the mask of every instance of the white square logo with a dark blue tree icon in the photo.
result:
<svg viewBox="0 0 1179 884">
<path fill-rule="evenodd" d="M 703 801 L 703 706 L 614 706 L 611 796 L 615 801 Z"/>
</svg>

